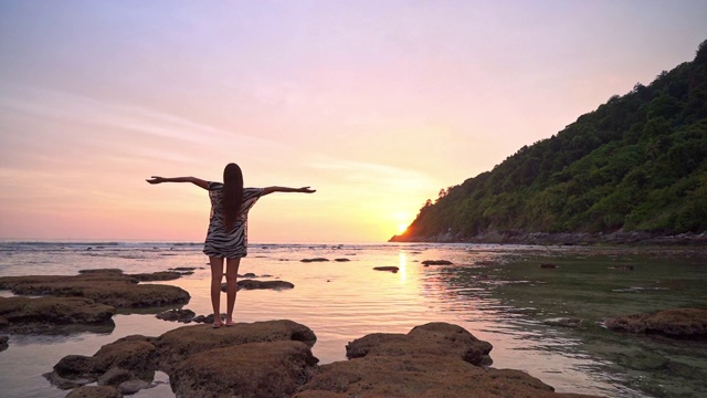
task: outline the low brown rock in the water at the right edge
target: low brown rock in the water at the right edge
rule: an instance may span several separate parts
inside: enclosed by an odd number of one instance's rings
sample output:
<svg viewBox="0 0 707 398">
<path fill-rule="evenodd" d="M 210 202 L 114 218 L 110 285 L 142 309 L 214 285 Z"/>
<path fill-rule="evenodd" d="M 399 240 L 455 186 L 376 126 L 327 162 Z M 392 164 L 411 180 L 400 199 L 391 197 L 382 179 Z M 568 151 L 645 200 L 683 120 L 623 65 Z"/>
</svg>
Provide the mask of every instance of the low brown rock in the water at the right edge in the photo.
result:
<svg viewBox="0 0 707 398">
<path fill-rule="evenodd" d="M 707 310 L 671 308 L 655 314 L 624 315 L 604 321 L 611 331 L 661 334 L 674 338 L 707 338 Z"/>
</svg>

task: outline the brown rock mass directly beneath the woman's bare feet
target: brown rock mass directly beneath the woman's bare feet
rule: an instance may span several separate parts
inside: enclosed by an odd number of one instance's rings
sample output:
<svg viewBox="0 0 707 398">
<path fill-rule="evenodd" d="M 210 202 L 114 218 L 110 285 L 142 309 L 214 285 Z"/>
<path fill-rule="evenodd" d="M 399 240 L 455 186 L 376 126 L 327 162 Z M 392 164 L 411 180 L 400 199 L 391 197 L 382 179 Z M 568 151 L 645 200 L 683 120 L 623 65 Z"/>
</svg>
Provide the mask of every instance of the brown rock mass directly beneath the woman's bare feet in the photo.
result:
<svg viewBox="0 0 707 398">
<path fill-rule="evenodd" d="M 283 397 L 318 362 L 310 350 L 315 342 L 312 329 L 292 321 L 183 326 L 160 337 L 120 338 L 91 357 L 68 355 L 45 377 L 64 389 L 98 383 L 131 395 L 163 370 L 184 397 Z"/>
</svg>

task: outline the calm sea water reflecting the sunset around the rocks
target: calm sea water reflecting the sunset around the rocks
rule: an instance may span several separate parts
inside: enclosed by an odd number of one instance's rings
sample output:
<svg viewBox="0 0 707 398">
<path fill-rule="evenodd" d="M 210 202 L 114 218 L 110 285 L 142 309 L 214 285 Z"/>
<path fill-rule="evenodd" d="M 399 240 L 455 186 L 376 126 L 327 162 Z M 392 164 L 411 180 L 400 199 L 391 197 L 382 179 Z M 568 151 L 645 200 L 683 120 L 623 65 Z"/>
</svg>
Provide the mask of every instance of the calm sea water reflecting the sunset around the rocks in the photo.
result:
<svg viewBox="0 0 707 398">
<path fill-rule="evenodd" d="M 328 262 L 300 260 L 326 258 Z M 336 262 L 335 259 L 348 259 Z M 241 291 L 238 322 L 288 318 L 317 335 L 320 364 L 345 360 L 345 345 L 369 333 L 407 333 L 429 322 L 465 327 L 490 342 L 493 367 L 529 373 L 560 392 L 606 397 L 706 397 L 707 343 L 615 334 L 609 316 L 676 306 L 707 307 L 703 253 L 658 249 L 578 249 L 483 244 L 251 244 L 240 273 L 295 284 Z M 453 265 L 424 266 L 424 260 Z M 551 262 L 557 269 L 541 269 Z M 394 265 L 398 273 L 373 271 Z M 614 269 L 633 265 L 633 271 Z M 191 294 L 184 308 L 209 314 L 209 270 L 201 243 L 0 242 L 0 276 L 118 268 L 126 273 L 196 266 L 165 282 Z M 0 291 L 0 295 L 11 293 Z M 225 300 L 225 298 L 223 298 Z M 0 353 L 3 397 L 64 397 L 42 374 L 65 355 L 93 355 L 105 344 L 158 336 L 183 324 L 155 313 L 124 313 L 112 331 L 11 335 Z M 562 326 L 571 318 L 574 326 Z M 173 397 L 168 377 L 135 397 Z"/>
</svg>

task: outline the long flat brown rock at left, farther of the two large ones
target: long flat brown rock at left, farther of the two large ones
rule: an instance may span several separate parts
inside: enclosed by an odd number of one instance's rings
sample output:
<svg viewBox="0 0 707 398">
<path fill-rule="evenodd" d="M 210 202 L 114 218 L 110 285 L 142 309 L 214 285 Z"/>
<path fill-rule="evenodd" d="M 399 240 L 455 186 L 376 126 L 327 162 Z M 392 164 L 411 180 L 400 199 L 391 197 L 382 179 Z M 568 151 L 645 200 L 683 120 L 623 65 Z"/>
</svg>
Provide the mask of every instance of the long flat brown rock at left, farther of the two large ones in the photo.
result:
<svg viewBox="0 0 707 398">
<path fill-rule="evenodd" d="M 119 270 L 86 270 L 78 275 L 2 276 L 0 289 L 19 295 L 54 295 L 92 298 L 115 307 L 159 307 L 189 302 L 177 286 L 138 284 Z"/>
</svg>

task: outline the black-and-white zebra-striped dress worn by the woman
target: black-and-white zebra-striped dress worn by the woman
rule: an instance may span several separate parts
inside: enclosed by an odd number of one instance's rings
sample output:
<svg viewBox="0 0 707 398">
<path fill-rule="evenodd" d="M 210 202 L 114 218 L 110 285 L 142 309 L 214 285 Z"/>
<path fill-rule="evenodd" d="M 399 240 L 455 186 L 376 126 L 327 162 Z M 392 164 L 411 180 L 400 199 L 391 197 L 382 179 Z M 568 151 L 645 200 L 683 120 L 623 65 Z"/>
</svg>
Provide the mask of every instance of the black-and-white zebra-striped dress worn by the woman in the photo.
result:
<svg viewBox="0 0 707 398">
<path fill-rule="evenodd" d="M 244 188 L 243 203 L 239 218 L 233 228 L 225 231 L 221 216 L 221 191 L 223 184 L 209 182 L 209 198 L 211 199 L 211 217 L 209 232 L 203 244 L 203 252 L 208 256 L 236 259 L 247 255 L 247 211 L 263 195 L 262 188 Z"/>
</svg>

